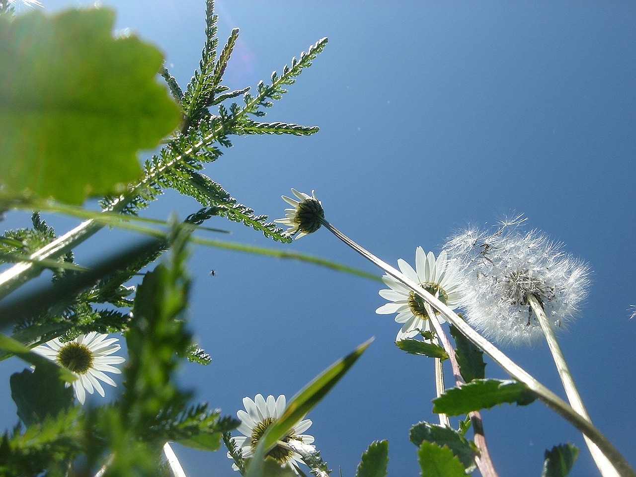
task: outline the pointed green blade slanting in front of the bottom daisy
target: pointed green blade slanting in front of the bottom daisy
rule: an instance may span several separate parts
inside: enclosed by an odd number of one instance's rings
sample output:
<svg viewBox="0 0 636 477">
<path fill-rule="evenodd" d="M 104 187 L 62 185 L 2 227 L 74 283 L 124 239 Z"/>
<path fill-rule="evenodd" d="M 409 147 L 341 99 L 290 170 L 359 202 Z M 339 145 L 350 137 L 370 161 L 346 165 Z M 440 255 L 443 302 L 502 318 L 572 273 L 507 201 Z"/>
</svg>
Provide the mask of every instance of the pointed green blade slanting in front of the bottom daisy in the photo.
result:
<svg viewBox="0 0 636 477">
<path fill-rule="evenodd" d="M 265 476 L 263 473 L 265 455 L 272 450 L 277 441 L 287 436 L 294 425 L 336 385 L 372 341 L 373 338 L 362 343 L 352 353 L 333 363 L 291 399 L 282 415 L 261 436 L 247 466 L 245 474 L 247 477 Z"/>
</svg>

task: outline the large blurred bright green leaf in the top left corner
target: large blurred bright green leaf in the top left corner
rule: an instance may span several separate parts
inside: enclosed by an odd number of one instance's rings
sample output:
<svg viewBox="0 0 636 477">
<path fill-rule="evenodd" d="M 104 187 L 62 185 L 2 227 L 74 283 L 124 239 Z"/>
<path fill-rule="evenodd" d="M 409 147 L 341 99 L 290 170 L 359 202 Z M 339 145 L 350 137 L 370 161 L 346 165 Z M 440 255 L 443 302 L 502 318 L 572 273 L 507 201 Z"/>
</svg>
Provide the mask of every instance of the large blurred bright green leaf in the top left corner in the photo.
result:
<svg viewBox="0 0 636 477">
<path fill-rule="evenodd" d="M 39 11 L 0 18 L 0 182 L 78 204 L 141 174 L 136 153 L 177 127 L 156 81 L 162 54 L 114 38 L 114 12 Z"/>
</svg>

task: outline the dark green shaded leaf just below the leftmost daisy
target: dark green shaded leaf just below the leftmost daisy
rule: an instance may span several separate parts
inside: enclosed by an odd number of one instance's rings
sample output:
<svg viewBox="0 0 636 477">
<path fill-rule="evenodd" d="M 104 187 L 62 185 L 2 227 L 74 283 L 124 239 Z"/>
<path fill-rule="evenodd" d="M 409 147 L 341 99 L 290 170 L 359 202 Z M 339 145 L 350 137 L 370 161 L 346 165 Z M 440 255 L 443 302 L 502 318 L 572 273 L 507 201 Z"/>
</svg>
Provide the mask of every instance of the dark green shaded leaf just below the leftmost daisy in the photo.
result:
<svg viewBox="0 0 636 477">
<path fill-rule="evenodd" d="M 73 405 L 73 389 L 65 387 L 56 373 L 43 366 L 34 371 L 13 373 L 9 380 L 11 398 L 18 410 L 18 417 L 25 425 L 44 422 Z"/>
</svg>

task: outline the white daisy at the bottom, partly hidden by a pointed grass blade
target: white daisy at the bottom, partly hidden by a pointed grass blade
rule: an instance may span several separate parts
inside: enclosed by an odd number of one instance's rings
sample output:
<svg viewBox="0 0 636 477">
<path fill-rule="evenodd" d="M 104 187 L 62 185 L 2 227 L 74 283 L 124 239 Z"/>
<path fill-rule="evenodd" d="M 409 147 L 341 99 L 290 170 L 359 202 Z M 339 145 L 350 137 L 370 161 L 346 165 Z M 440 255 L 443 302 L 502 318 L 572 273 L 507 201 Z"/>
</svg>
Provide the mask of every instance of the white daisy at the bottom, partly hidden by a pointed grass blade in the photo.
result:
<svg viewBox="0 0 636 477">
<path fill-rule="evenodd" d="M 267 396 L 266 400 L 261 394 L 256 394 L 254 401 L 249 397 L 244 397 L 243 405 L 245 406 L 245 411 L 239 410 L 237 412 L 237 417 L 240 419 L 240 425 L 237 430 L 244 436 L 233 437 L 232 441 L 241 448 L 243 458 L 249 459 L 252 457 L 256 445 L 266 429 L 282 415 L 286 407 L 286 401 L 285 396 L 282 394 L 277 399 L 274 399 L 271 395 Z M 300 420 L 298 424 L 294 425 L 293 430 L 287 437 L 281 439 L 282 442 L 293 440 L 305 445 L 311 444 L 314 442 L 314 437 L 302 434 L 302 432 L 307 431 L 310 425 L 312 425 L 310 419 Z M 281 467 L 289 466 L 298 474 L 298 463 L 302 462 L 300 454 L 287 447 L 277 445 L 267 455 L 277 460 Z M 232 459 L 232 455 L 229 452 L 228 457 Z M 232 468 L 235 471 L 239 470 L 236 464 L 232 464 Z"/>
</svg>

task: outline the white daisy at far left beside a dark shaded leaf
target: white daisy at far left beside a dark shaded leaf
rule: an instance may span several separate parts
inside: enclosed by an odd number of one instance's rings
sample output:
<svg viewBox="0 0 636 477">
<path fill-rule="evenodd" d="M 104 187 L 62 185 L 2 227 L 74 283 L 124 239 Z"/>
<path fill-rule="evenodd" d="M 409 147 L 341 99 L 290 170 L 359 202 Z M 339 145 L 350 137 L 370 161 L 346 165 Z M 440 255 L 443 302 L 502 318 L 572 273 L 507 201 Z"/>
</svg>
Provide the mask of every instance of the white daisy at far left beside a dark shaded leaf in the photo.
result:
<svg viewBox="0 0 636 477">
<path fill-rule="evenodd" d="M 116 387 L 115 382 L 105 373 L 120 374 L 121 371 L 112 365 L 126 361 L 121 356 L 110 356 L 120 350 L 121 346 L 116 344 L 118 338 L 106 339 L 107 336 L 92 331 L 65 343 L 60 342 L 59 338 L 53 338 L 32 350 L 78 377 L 73 381 L 73 390 L 79 403 L 84 404 L 86 391 L 93 394 L 93 390 L 97 389 L 100 396 L 104 397 L 104 388 L 99 380 Z"/>
</svg>

